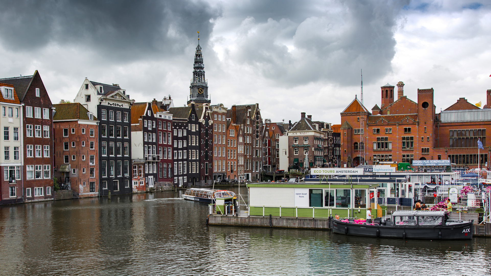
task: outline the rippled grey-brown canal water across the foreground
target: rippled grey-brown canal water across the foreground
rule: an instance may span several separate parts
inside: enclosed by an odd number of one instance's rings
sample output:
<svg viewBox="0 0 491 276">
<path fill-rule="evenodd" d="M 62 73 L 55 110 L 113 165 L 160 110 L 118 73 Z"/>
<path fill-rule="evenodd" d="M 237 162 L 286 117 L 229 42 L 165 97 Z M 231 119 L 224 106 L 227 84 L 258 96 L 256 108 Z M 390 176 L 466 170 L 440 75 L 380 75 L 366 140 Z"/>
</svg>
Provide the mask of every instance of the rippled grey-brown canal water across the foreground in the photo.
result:
<svg viewBox="0 0 491 276">
<path fill-rule="evenodd" d="M 491 275 L 491 239 L 217 227 L 207 214 L 173 192 L 2 206 L 0 275 Z"/>
</svg>

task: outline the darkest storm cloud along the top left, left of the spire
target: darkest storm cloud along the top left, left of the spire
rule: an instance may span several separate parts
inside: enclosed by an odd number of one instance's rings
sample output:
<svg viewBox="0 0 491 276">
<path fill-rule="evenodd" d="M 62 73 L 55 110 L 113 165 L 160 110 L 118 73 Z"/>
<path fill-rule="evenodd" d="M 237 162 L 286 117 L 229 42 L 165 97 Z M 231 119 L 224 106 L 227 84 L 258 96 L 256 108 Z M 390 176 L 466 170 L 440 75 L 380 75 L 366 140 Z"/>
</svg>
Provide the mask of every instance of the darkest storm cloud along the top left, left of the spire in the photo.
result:
<svg viewBox="0 0 491 276">
<path fill-rule="evenodd" d="M 180 54 L 196 31 L 207 38 L 220 11 L 192 0 L 12 0 L 0 9 L 0 37 L 11 51 L 51 42 L 109 57 Z"/>
</svg>

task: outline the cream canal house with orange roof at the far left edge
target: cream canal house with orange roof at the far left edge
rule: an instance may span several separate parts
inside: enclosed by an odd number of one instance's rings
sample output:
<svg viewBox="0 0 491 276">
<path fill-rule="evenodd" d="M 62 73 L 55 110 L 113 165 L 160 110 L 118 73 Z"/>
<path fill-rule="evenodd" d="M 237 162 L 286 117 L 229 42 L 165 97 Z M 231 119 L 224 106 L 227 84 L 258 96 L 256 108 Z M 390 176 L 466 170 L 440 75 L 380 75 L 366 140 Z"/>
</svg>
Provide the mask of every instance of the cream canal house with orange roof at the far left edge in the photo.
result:
<svg viewBox="0 0 491 276">
<path fill-rule="evenodd" d="M 22 203 L 22 106 L 13 85 L 0 83 L 0 91 L 0 127 L 3 130 L 3 138 L 0 139 L 0 148 L 3 150 L 0 204 Z"/>
</svg>

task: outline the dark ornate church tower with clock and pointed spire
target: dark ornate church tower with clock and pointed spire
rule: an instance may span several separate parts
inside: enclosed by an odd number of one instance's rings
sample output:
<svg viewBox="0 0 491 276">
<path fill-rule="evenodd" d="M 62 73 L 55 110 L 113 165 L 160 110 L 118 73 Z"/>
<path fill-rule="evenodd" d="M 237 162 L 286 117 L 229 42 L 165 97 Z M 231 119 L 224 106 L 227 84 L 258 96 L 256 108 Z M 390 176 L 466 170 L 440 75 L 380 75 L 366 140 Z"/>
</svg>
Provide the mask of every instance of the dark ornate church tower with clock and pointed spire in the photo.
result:
<svg viewBox="0 0 491 276">
<path fill-rule="evenodd" d="M 190 97 L 188 106 L 191 106 L 191 102 L 195 105 L 209 104 L 211 101 L 208 99 L 208 81 L 205 79 L 205 65 L 203 63 L 203 53 L 201 52 L 201 46 L 199 46 L 199 31 L 198 31 L 198 46 L 194 54 L 194 66 L 192 67 L 192 80 L 190 88 Z"/>
</svg>

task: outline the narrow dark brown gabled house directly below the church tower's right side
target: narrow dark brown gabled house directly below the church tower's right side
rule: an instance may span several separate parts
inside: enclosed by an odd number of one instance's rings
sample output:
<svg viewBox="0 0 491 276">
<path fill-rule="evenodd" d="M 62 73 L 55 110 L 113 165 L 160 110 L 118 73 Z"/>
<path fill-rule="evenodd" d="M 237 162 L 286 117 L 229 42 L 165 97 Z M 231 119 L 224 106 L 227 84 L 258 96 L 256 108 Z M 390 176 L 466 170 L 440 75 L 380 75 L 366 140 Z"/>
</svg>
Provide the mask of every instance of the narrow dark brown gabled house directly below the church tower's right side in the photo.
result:
<svg viewBox="0 0 491 276">
<path fill-rule="evenodd" d="M 200 122 L 200 184 L 206 185 L 212 183 L 213 177 L 213 114 L 210 104 L 196 106 L 196 114 Z"/>
</svg>

